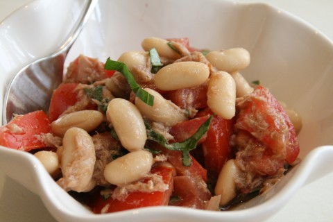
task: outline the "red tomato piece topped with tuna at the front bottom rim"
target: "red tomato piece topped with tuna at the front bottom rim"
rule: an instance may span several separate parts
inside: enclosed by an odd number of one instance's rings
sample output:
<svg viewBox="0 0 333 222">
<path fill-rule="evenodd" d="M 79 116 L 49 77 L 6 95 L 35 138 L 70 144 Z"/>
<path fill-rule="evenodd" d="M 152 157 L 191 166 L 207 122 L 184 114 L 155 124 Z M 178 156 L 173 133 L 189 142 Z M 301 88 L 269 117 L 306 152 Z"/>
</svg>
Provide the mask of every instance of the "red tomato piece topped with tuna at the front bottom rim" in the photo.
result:
<svg viewBox="0 0 333 222">
<path fill-rule="evenodd" d="M 106 212 L 108 213 L 130 210 L 139 207 L 168 205 L 173 190 L 173 177 L 175 175 L 175 169 L 172 167 L 165 167 L 163 164 L 155 164 L 151 169 L 151 173 L 162 176 L 164 184 L 169 185 L 169 189 L 166 191 L 155 191 L 152 193 L 135 191 L 128 194 L 124 200 L 112 199 L 111 197 L 104 200 L 103 196 L 98 195 L 91 206 L 92 211 L 95 214 L 101 214 L 101 211 L 107 205 L 108 209 Z"/>
</svg>

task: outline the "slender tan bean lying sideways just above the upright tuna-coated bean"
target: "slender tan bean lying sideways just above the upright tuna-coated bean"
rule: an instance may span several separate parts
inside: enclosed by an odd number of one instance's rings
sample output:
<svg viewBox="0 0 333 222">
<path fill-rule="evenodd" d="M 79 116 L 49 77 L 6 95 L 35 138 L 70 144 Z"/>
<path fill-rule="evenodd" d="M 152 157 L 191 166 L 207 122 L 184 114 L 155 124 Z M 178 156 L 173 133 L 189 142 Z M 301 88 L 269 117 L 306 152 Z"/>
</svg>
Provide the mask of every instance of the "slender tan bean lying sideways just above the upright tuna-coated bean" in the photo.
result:
<svg viewBox="0 0 333 222">
<path fill-rule="evenodd" d="M 51 123 L 52 133 L 62 136 L 69 128 L 78 127 L 90 132 L 103 121 L 103 114 L 96 110 L 81 110 L 65 114 Z"/>
</svg>

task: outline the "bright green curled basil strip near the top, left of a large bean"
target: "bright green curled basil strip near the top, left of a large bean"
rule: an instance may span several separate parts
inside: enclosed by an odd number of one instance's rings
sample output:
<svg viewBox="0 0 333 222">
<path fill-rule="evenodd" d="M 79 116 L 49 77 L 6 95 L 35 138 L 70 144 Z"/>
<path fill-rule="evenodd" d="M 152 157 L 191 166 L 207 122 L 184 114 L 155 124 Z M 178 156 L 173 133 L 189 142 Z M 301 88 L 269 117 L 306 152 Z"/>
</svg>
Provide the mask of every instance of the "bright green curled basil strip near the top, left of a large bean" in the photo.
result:
<svg viewBox="0 0 333 222">
<path fill-rule="evenodd" d="M 154 105 L 154 96 L 146 92 L 137 84 L 135 78 L 130 73 L 130 70 L 128 70 L 128 67 L 125 63 L 111 60 L 109 57 L 105 62 L 104 69 L 119 71 L 121 74 L 123 74 L 123 76 L 125 76 L 128 84 L 130 85 L 130 88 L 133 90 L 133 92 L 135 92 L 137 98 L 141 99 L 147 105 Z"/>
</svg>

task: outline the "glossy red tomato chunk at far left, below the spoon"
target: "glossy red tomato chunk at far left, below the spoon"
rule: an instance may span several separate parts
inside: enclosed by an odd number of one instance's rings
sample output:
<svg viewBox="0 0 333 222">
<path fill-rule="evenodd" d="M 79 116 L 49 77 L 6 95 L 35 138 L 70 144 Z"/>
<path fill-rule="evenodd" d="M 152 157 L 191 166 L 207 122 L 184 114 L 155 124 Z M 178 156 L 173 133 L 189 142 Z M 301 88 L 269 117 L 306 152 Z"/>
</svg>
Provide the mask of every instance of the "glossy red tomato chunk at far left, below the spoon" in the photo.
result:
<svg viewBox="0 0 333 222">
<path fill-rule="evenodd" d="M 39 110 L 16 116 L 7 125 L 0 127 L 0 145 L 23 151 L 45 147 L 36 136 L 51 133 L 50 119 Z M 16 133 L 13 130 L 16 130 Z"/>
</svg>

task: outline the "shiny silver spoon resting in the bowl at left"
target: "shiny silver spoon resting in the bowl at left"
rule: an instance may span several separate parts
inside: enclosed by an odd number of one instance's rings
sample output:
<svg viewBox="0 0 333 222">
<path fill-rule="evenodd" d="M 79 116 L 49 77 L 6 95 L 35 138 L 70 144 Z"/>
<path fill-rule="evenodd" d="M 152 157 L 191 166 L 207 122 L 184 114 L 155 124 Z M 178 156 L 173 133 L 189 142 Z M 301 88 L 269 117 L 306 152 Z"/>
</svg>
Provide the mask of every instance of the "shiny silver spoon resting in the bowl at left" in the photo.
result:
<svg viewBox="0 0 333 222">
<path fill-rule="evenodd" d="M 57 51 L 26 65 L 12 78 L 3 102 L 3 124 L 8 123 L 13 114 L 49 110 L 53 89 L 62 82 L 67 53 L 94 10 L 97 1 L 87 1 L 78 22 Z"/>
</svg>

